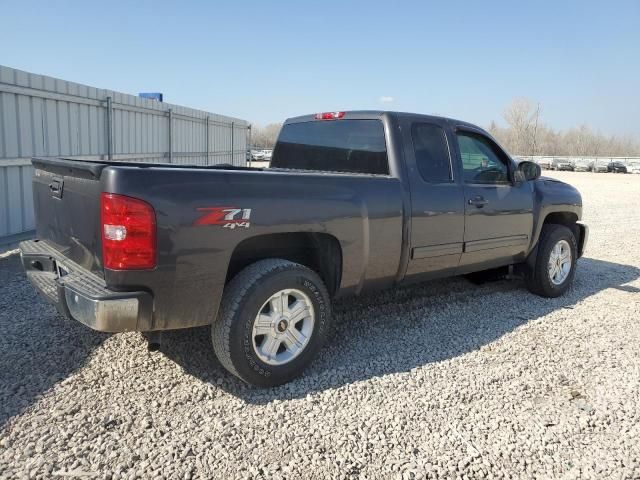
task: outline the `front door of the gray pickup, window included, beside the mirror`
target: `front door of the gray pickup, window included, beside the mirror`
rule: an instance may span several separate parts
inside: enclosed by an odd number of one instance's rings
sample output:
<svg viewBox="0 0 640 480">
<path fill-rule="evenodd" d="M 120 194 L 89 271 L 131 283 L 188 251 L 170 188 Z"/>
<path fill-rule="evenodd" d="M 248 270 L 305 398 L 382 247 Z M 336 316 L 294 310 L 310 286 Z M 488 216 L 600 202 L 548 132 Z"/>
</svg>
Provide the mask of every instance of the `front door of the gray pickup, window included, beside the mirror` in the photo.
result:
<svg viewBox="0 0 640 480">
<path fill-rule="evenodd" d="M 461 271 L 524 260 L 533 230 L 533 186 L 512 182 L 513 162 L 480 131 L 456 129 L 465 197 Z"/>
</svg>

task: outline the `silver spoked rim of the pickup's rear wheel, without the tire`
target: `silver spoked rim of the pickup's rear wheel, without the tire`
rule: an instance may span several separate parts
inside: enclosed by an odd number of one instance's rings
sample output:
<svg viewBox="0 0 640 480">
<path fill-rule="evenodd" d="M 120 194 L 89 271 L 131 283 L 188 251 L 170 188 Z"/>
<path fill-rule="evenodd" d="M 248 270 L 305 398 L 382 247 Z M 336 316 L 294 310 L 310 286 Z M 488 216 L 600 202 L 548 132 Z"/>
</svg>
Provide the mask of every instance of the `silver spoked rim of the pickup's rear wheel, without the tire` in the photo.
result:
<svg viewBox="0 0 640 480">
<path fill-rule="evenodd" d="M 253 350 L 269 365 L 284 365 L 300 355 L 313 334 L 315 312 L 300 290 L 280 290 L 260 308 L 253 321 Z"/>
</svg>

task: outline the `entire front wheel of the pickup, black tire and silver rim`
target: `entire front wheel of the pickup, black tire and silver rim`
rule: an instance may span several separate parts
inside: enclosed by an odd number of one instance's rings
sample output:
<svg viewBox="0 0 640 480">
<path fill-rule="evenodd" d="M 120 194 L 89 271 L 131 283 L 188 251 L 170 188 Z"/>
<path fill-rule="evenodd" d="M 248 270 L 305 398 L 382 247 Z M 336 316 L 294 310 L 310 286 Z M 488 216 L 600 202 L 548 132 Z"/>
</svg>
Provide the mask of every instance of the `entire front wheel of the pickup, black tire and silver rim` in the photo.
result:
<svg viewBox="0 0 640 480">
<path fill-rule="evenodd" d="M 566 292 L 575 276 L 577 251 L 576 237 L 569 228 L 544 225 L 535 264 L 525 274 L 529 291 L 542 297 L 559 297 Z"/>
</svg>

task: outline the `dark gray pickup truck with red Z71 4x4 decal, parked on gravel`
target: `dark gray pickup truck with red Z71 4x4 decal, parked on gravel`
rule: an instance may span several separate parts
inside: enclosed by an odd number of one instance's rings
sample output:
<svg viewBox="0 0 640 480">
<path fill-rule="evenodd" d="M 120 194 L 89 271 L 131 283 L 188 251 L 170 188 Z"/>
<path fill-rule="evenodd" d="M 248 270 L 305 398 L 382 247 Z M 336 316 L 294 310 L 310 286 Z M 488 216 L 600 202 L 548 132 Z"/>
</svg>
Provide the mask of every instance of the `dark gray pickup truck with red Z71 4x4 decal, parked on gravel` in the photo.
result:
<svg viewBox="0 0 640 480">
<path fill-rule="evenodd" d="M 587 242 L 575 188 L 434 116 L 292 118 L 268 169 L 33 165 L 21 255 L 48 301 L 105 332 L 211 325 L 221 364 L 259 386 L 312 361 L 334 298 L 496 268 L 557 297 Z"/>
</svg>

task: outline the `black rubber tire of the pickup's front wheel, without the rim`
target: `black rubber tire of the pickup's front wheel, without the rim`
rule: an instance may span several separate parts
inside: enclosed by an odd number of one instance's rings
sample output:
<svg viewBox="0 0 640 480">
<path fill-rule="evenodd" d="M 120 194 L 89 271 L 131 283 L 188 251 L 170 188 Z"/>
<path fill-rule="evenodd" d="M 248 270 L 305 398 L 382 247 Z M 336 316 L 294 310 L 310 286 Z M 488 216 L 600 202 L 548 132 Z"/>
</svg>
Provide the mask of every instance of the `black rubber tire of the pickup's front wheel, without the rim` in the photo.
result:
<svg viewBox="0 0 640 480">
<path fill-rule="evenodd" d="M 566 240 L 571 250 L 571 270 L 567 278 L 559 285 L 549 278 L 549 258 L 553 247 L 560 241 Z M 541 297 L 555 298 L 562 295 L 571 286 L 576 273 L 578 245 L 571 229 L 564 225 L 547 224 L 542 227 L 538 241 L 538 254 L 535 265 L 528 267 L 525 272 L 525 282 L 530 292 Z"/>
</svg>

